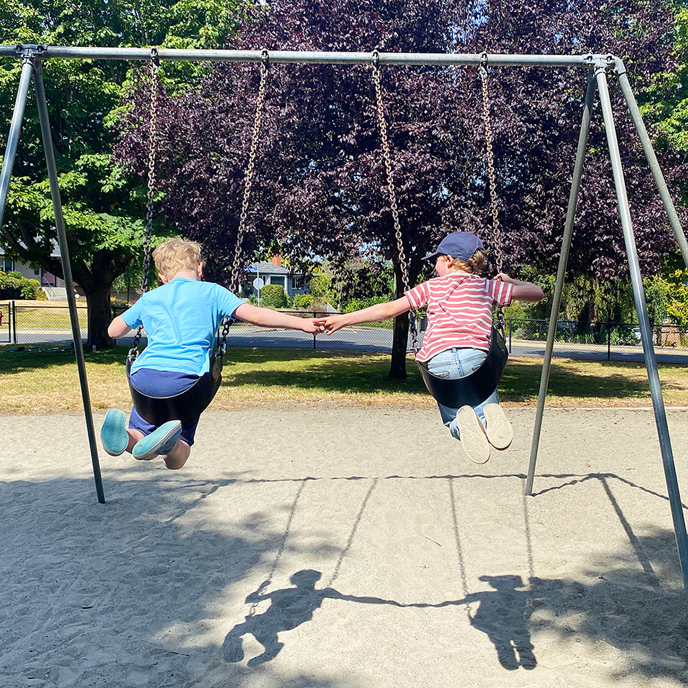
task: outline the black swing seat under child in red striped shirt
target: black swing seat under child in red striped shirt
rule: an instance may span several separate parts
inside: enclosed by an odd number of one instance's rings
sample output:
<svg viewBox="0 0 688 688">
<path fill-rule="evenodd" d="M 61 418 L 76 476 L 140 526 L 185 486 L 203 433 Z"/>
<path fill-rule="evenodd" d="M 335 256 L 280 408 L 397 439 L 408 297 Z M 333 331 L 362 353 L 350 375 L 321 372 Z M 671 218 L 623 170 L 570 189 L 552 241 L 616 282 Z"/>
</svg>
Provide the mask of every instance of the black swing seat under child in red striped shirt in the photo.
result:
<svg viewBox="0 0 688 688">
<path fill-rule="evenodd" d="M 477 406 L 490 396 L 502 377 L 509 356 L 502 330 L 492 326 L 490 350 L 480 368 L 464 378 L 448 380 L 429 372 L 425 361 L 416 361 L 425 387 L 436 401 L 453 409 Z"/>
</svg>

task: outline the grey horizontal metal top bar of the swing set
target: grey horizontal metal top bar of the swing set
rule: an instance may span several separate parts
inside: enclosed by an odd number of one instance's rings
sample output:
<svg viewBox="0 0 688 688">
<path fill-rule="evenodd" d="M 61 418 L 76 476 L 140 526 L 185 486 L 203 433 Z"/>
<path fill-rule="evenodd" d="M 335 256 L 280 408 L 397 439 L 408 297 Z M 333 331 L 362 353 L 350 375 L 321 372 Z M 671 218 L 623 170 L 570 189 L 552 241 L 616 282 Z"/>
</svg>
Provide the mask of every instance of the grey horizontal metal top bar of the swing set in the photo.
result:
<svg viewBox="0 0 688 688">
<path fill-rule="evenodd" d="M 0 45 L 0 57 L 21 57 L 24 50 L 41 59 L 96 59 L 145 61 L 151 58 L 150 48 L 137 47 L 62 47 L 58 45 Z M 187 62 L 260 62 L 261 50 L 175 50 L 158 48 L 162 61 Z M 485 54 L 380 52 L 381 65 L 479 65 Z M 596 55 L 506 55 L 488 54 L 489 65 L 506 67 L 590 67 L 597 61 L 614 61 L 609 54 Z M 314 63 L 345 65 L 372 61 L 372 52 L 307 52 L 274 50 L 268 52 L 271 63 Z"/>
</svg>

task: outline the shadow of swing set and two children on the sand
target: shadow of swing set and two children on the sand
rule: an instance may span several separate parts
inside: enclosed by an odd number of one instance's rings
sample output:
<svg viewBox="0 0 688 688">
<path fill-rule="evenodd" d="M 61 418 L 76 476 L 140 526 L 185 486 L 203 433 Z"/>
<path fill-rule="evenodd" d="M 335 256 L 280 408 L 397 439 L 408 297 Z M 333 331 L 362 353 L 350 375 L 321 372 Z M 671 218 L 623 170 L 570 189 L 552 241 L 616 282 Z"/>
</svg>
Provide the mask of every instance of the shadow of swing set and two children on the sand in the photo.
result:
<svg viewBox="0 0 688 688">
<path fill-rule="evenodd" d="M 530 537 L 530 518 L 528 515 L 528 499 L 526 494 L 523 495 L 523 517 L 524 517 L 524 536 L 526 546 L 526 559 L 528 563 L 528 581 L 524 583 L 524 579 L 519 574 L 500 574 L 496 576 L 481 575 L 478 580 L 488 583 L 488 590 L 480 590 L 477 592 L 469 592 L 468 575 L 466 573 L 466 561 L 464 560 L 462 534 L 460 532 L 459 515 L 457 510 L 458 499 L 455 495 L 454 483 L 470 478 L 484 478 L 488 476 L 480 475 L 388 475 L 385 477 L 362 477 L 362 476 L 338 476 L 330 477 L 330 480 L 370 480 L 370 486 L 365 491 L 365 495 L 361 501 L 361 506 L 354 518 L 351 526 L 350 534 L 346 544 L 341 548 L 338 559 L 334 563 L 332 573 L 325 583 L 319 581 L 323 577 L 321 571 L 313 569 L 301 569 L 290 576 L 291 587 L 277 588 L 269 590 L 273 583 L 273 577 L 279 566 L 282 554 L 285 550 L 287 540 L 290 537 L 290 531 L 294 515 L 297 512 L 299 499 L 304 491 L 305 484 L 322 480 L 313 477 L 303 478 L 287 478 L 282 479 L 286 482 L 299 483 L 296 494 L 291 504 L 290 513 L 287 519 L 286 526 L 281 535 L 279 548 L 272 561 L 268 578 L 264 580 L 261 585 L 254 592 L 250 592 L 246 596 L 245 603 L 250 605 L 248 613 L 244 621 L 236 623 L 226 634 L 224 642 L 222 643 L 222 656 L 228 663 L 239 663 L 245 658 L 244 637 L 253 636 L 255 640 L 263 646 L 263 652 L 252 656 L 248 659 L 246 665 L 250 668 L 257 667 L 261 664 L 274 659 L 284 643 L 279 641 L 279 634 L 285 631 L 294 630 L 303 623 L 312 621 L 314 612 L 321 608 L 325 600 L 339 601 L 339 602 L 354 602 L 366 605 L 387 605 L 396 607 L 398 609 L 441 609 L 447 607 L 462 607 L 466 612 L 466 618 L 469 624 L 482 633 L 484 633 L 491 641 L 495 648 L 497 660 L 507 671 L 516 671 L 517 669 L 532 670 L 537 667 L 537 657 L 535 654 L 535 646 L 531 639 L 530 627 L 531 616 L 533 612 L 539 607 L 547 607 L 550 611 L 571 612 L 576 610 L 578 612 L 590 613 L 594 608 L 594 588 L 586 588 L 581 583 L 572 583 L 566 579 L 542 579 L 535 576 L 533 563 L 533 547 Z M 519 482 L 526 480 L 524 474 L 506 474 L 506 475 L 491 475 L 491 479 L 495 478 L 512 478 L 519 480 Z M 552 477 L 548 475 L 546 477 Z M 641 563 L 643 574 L 647 574 L 656 581 L 656 572 L 652 568 L 652 563 L 647 559 L 647 555 L 643 550 L 643 546 L 638 537 L 628 524 L 623 510 L 619 502 L 614 497 L 614 493 L 610 489 L 610 482 L 616 481 L 620 484 L 625 484 L 631 488 L 636 488 L 649 495 L 659 499 L 667 499 L 664 495 L 660 495 L 652 490 L 648 490 L 642 486 L 634 484 L 625 477 L 621 477 L 614 473 L 595 473 L 590 475 L 574 475 L 561 474 L 557 477 L 565 480 L 557 487 L 550 489 L 566 489 L 570 488 L 579 482 L 593 480 L 601 484 L 605 494 L 607 495 L 612 510 L 619 518 L 623 525 L 625 532 L 634 552 L 634 557 Z M 256 480 L 252 479 L 250 482 L 282 482 L 282 480 Z M 351 595 L 343 594 L 332 587 L 336 581 L 339 570 L 343 560 L 350 551 L 358 526 L 363 520 L 363 515 L 367 508 L 372 494 L 380 480 L 439 480 L 441 482 L 447 481 L 449 490 L 447 497 L 451 504 L 451 522 L 453 525 L 453 539 L 458 557 L 458 570 L 461 578 L 461 587 L 463 596 L 460 599 L 445 599 L 442 601 L 414 601 L 414 602 L 400 602 L 394 599 L 384 599 L 369 595 Z M 231 481 L 234 482 L 234 481 Z M 222 484 L 222 483 L 220 483 Z M 218 484 L 215 483 L 215 488 Z M 226 483 L 224 484 L 226 486 Z M 604 580 L 604 579 L 602 579 Z M 566 594 L 568 590 L 569 594 Z M 628 589 L 630 592 L 630 588 Z M 572 594 L 572 593 L 576 594 Z M 585 599 L 588 593 L 592 593 L 592 599 Z M 656 593 L 651 594 L 656 603 Z M 671 610 L 676 610 L 680 607 L 680 601 L 671 599 L 672 596 L 665 598 L 665 611 L 667 618 L 676 619 L 676 613 L 671 614 Z M 623 607 L 627 610 L 633 610 L 634 605 L 638 603 L 636 598 L 629 597 L 627 604 Z M 629 612 L 632 614 L 632 612 Z M 679 614 L 680 615 L 680 614 Z M 673 622 L 671 622 L 673 623 Z M 623 629 L 623 623 L 620 625 Z M 648 630 L 650 636 L 654 635 L 654 630 Z M 628 641 L 627 636 L 623 635 L 623 630 L 619 634 L 612 633 L 611 638 L 614 638 L 616 643 L 623 645 Z M 657 643 L 663 643 L 661 634 L 658 636 Z M 635 639 L 637 642 L 637 638 Z M 647 642 L 646 638 L 643 641 Z M 649 652 L 652 653 L 652 642 L 648 643 Z"/>
</svg>

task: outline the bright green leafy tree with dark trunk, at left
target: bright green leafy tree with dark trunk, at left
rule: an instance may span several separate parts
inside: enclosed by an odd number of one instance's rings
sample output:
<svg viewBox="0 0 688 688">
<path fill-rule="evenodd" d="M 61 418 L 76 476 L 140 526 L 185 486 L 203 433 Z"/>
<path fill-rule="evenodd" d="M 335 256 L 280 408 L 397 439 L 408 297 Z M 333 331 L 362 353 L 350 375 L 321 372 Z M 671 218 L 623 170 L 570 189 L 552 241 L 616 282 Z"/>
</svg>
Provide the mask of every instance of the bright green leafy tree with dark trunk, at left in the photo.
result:
<svg viewBox="0 0 688 688">
<path fill-rule="evenodd" d="M 241 1 L 6 0 L 0 6 L 0 43 L 82 46 L 224 47 Z M 162 87 L 183 92 L 208 69 L 196 63 L 167 63 Z M 111 157 L 111 125 L 122 113 L 120 98 L 140 83 L 140 65 L 124 61 L 51 60 L 43 78 L 52 124 L 65 228 L 74 280 L 87 299 L 89 344 L 111 345 L 107 336 L 109 293 L 114 279 L 141 252 L 145 190 Z M 0 144 L 19 85 L 21 61 L 0 61 Z M 36 110 L 28 103 L 14 161 L 0 244 L 12 256 L 62 275 L 50 254 L 56 234 Z M 156 224 L 156 234 L 175 231 Z"/>
</svg>

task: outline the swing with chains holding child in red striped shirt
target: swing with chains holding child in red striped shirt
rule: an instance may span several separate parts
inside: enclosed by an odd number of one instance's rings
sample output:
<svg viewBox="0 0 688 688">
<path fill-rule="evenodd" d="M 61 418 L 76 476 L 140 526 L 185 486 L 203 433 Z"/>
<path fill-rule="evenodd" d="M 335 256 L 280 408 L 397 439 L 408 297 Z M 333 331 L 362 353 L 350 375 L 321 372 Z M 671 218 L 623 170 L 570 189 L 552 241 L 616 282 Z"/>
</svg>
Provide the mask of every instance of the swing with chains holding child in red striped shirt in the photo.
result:
<svg viewBox="0 0 688 688">
<path fill-rule="evenodd" d="M 497 272 L 502 272 L 502 242 L 501 234 L 499 232 L 499 217 L 497 215 L 497 192 L 495 184 L 495 166 L 494 154 L 492 149 L 492 136 L 490 130 L 490 108 L 487 92 L 487 69 L 485 67 L 486 56 L 480 64 L 480 76 L 482 80 L 482 102 L 483 102 L 483 118 L 485 123 L 485 142 L 487 153 L 487 166 L 490 186 L 490 200 L 493 218 L 493 226 L 495 228 L 495 255 L 497 257 Z M 389 200 L 392 211 L 392 218 L 394 220 L 394 230 L 397 239 L 397 250 L 399 255 L 399 264 L 401 267 L 402 281 L 404 282 L 404 290 L 409 290 L 409 275 L 407 271 L 407 263 L 402 242 L 401 228 L 399 223 L 399 215 L 397 211 L 396 193 L 394 191 L 394 178 L 391 173 L 391 153 L 389 139 L 387 138 L 387 122 L 383 111 L 382 92 L 380 88 L 380 69 L 378 67 L 377 54 L 374 52 L 372 61 L 372 76 L 375 85 L 378 120 L 380 124 L 380 138 L 383 144 L 383 155 L 385 158 L 385 169 L 387 171 L 387 182 L 389 189 Z M 418 321 L 416 314 L 409 315 L 409 323 L 411 327 L 411 338 L 413 346 L 413 354 L 418 354 L 420 349 L 418 345 Z M 487 357 L 479 368 L 475 369 L 471 374 L 463 378 L 440 378 L 433 375 L 424 361 L 416 360 L 418 370 L 423 378 L 425 387 L 433 396 L 433 398 L 440 404 L 452 408 L 460 408 L 462 406 L 477 406 L 488 396 L 492 394 L 499 379 L 502 377 L 506 361 L 508 359 L 508 348 L 506 347 L 506 336 L 504 334 L 504 326 L 506 319 L 502 308 L 499 308 L 497 320 L 492 325 L 490 336 L 490 348 Z"/>
</svg>

